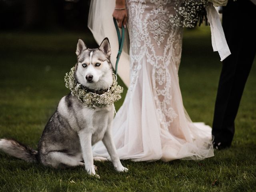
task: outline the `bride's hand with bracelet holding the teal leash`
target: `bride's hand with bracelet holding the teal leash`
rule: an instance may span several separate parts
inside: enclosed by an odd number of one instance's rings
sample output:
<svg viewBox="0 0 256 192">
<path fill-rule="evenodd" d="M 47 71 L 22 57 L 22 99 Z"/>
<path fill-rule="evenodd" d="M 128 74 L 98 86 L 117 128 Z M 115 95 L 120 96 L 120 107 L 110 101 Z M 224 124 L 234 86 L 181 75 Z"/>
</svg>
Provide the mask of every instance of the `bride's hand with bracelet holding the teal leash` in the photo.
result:
<svg viewBox="0 0 256 192">
<path fill-rule="evenodd" d="M 124 25 L 124 28 L 126 28 L 128 14 L 124 0 L 116 0 L 116 7 L 112 16 L 117 20 L 119 28 L 122 27 L 122 24 Z"/>
</svg>

